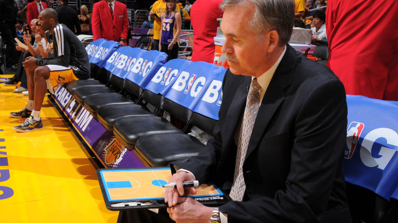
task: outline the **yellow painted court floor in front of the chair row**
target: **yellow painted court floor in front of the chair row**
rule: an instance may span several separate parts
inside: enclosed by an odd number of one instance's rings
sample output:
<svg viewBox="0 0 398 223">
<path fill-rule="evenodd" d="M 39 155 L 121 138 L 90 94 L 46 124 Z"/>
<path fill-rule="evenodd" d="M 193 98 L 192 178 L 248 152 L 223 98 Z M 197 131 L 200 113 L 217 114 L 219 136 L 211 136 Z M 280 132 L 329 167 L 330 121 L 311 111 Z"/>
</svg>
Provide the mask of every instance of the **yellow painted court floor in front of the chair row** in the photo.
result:
<svg viewBox="0 0 398 223">
<path fill-rule="evenodd" d="M 118 213 L 105 208 L 96 169 L 47 97 L 42 129 L 12 130 L 24 120 L 9 112 L 27 102 L 13 89 L 0 84 L 0 223 L 116 223 Z M 7 188 L 13 195 L 3 199 Z"/>
</svg>

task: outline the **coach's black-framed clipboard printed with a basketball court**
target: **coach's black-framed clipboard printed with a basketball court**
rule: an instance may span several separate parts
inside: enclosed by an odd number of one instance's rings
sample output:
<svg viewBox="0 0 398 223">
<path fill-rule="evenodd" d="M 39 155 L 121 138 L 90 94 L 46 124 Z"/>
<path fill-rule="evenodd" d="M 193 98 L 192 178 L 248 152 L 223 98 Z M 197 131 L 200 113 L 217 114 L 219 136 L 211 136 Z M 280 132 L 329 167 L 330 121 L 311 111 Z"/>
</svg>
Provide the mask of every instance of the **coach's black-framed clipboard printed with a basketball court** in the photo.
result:
<svg viewBox="0 0 398 223">
<path fill-rule="evenodd" d="M 171 179 L 168 167 L 99 169 L 100 183 L 105 206 L 111 211 L 168 208 L 164 202 L 166 188 L 162 186 Z M 218 207 L 231 198 L 213 184 L 202 184 L 196 195 L 189 195 L 208 207 Z"/>
</svg>

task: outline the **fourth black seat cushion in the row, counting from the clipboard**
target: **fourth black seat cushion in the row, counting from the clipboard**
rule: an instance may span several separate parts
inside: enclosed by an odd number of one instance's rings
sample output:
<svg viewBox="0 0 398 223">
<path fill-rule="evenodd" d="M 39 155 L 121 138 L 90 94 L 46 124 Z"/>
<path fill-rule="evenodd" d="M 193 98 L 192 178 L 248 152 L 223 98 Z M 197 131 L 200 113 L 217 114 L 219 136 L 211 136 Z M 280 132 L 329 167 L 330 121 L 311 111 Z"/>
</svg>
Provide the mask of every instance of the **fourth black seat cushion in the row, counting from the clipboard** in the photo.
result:
<svg viewBox="0 0 398 223">
<path fill-rule="evenodd" d="M 126 96 L 118 94 L 92 95 L 84 100 L 84 108 L 93 116 L 97 116 L 100 107 L 116 104 L 133 104 L 133 102 Z"/>
</svg>

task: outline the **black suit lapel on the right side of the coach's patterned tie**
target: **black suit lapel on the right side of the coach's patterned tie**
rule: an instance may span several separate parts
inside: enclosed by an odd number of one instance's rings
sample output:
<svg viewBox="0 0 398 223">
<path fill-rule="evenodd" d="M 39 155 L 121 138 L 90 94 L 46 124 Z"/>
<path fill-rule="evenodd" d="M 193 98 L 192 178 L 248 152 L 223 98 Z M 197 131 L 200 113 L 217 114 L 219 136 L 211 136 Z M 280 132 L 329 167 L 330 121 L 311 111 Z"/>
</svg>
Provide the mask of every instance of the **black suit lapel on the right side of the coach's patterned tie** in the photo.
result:
<svg viewBox="0 0 398 223">
<path fill-rule="evenodd" d="M 292 84 L 295 66 L 296 51 L 290 45 L 287 45 L 285 55 L 276 69 L 261 102 L 256 121 L 254 122 L 252 137 L 247 147 L 245 160 L 257 147 L 272 116 L 285 100 L 284 89 Z"/>
</svg>

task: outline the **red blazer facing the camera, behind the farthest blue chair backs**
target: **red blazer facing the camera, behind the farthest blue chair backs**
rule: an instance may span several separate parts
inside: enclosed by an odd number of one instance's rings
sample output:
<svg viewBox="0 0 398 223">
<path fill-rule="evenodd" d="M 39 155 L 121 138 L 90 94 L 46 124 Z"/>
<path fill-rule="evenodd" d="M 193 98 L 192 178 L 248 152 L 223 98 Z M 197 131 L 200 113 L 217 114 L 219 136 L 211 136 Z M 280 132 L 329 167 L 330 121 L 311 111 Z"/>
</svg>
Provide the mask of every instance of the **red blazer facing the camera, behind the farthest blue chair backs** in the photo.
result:
<svg viewBox="0 0 398 223">
<path fill-rule="evenodd" d="M 93 6 L 92 29 L 94 40 L 104 38 L 120 41 L 120 37 L 127 39 L 128 17 L 125 4 L 115 1 L 113 20 L 110 15 L 108 2 L 99 1 Z"/>
</svg>

